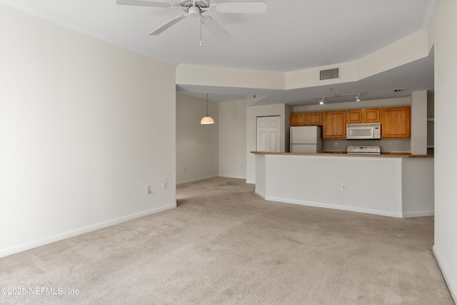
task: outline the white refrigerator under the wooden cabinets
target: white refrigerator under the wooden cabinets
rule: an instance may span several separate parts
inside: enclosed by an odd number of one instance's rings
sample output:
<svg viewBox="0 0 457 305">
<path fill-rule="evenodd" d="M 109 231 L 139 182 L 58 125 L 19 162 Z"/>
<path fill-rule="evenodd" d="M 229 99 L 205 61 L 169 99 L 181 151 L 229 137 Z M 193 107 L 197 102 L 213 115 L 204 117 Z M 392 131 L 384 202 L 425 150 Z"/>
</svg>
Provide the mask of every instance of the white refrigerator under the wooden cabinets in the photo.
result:
<svg viewBox="0 0 457 305">
<path fill-rule="evenodd" d="M 291 152 L 321 153 L 323 152 L 321 126 L 291 127 Z"/>
</svg>

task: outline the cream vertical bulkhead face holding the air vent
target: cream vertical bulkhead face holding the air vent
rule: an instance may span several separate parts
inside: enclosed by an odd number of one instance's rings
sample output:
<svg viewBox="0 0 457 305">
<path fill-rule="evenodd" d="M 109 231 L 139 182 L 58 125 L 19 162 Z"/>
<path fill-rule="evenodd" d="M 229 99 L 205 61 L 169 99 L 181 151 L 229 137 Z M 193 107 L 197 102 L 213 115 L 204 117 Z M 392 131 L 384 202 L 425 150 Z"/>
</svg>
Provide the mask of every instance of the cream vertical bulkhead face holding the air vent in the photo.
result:
<svg viewBox="0 0 457 305">
<path fill-rule="evenodd" d="M 246 94 L 259 94 L 259 91 L 263 91 L 261 89 L 288 90 L 321 86 L 321 82 L 316 78 L 318 71 L 335 66 L 341 68 L 341 78 L 328 80 L 326 84 L 341 84 L 365 79 L 426 57 L 429 51 L 427 42 L 427 31 L 421 30 L 356 61 L 288 72 L 178 64 L 176 84 L 234 86 L 251 89 L 246 90 Z"/>
</svg>

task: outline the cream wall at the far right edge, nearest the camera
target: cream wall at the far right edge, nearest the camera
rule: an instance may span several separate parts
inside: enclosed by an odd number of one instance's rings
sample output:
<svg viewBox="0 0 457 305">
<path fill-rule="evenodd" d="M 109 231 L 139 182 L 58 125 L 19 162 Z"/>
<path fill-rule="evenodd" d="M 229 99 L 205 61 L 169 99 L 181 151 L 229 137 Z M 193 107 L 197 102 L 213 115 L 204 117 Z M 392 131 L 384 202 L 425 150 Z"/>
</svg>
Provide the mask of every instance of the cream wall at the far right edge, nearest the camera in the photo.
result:
<svg viewBox="0 0 457 305">
<path fill-rule="evenodd" d="M 435 245 L 457 302 L 457 0 L 438 3 L 429 30 L 435 52 Z"/>
</svg>

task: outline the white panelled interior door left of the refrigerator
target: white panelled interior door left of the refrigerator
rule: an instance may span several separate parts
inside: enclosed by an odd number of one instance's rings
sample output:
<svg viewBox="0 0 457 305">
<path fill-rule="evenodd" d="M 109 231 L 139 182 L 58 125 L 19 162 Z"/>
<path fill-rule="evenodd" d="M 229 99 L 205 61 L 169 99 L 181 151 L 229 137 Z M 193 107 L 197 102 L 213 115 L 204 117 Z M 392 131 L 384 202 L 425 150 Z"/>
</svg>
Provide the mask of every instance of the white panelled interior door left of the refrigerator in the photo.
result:
<svg viewBox="0 0 457 305">
<path fill-rule="evenodd" d="M 257 117 L 257 151 L 281 151 L 281 116 Z"/>
</svg>

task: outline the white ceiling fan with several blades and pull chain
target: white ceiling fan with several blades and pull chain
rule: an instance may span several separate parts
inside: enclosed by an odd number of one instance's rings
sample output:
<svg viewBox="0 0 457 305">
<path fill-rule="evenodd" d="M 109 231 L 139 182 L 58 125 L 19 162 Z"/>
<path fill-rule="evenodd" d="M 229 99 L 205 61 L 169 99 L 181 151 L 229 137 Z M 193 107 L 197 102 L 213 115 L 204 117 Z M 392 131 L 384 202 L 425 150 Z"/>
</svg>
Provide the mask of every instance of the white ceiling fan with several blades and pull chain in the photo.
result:
<svg viewBox="0 0 457 305">
<path fill-rule="evenodd" d="M 232 13 L 232 14 L 259 14 L 266 11 L 265 1 L 246 1 L 246 2 L 215 2 L 210 3 L 210 0 L 179 0 L 178 4 L 169 4 L 166 2 L 148 1 L 148 0 L 116 0 L 119 5 L 133 6 L 152 6 L 164 9 L 182 9 L 186 14 L 176 16 L 174 19 L 167 21 L 159 28 L 151 31 L 149 35 L 158 35 L 161 32 L 169 29 L 169 27 L 183 20 L 187 16 L 200 16 L 201 24 L 208 29 L 211 34 L 216 36 L 220 41 L 230 39 L 230 35 L 220 26 L 211 16 L 203 16 L 207 11 L 214 13 Z M 201 41 L 200 41 L 201 44 Z"/>
</svg>

